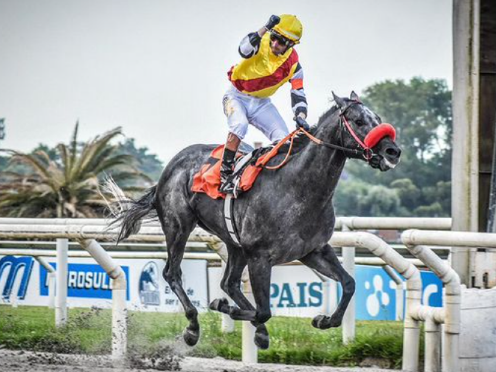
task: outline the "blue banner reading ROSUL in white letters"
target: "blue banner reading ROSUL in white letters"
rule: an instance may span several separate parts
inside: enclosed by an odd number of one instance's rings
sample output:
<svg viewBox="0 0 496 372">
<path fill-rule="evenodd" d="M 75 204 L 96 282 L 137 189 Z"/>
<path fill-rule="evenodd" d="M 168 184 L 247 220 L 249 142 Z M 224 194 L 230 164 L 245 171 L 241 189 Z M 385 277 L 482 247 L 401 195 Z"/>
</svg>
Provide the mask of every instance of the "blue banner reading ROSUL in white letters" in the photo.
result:
<svg viewBox="0 0 496 372">
<path fill-rule="evenodd" d="M 55 269 L 57 264 L 50 262 Z M 129 267 L 121 266 L 129 283 Z M 40 266 L 40 295 L 48 296 L 47 270 Z M 67 297 L 112 299 L 112 281 L 105 270 L 92 263 L 69 263 L 67 269 Z M 126 290 L 129 301 L 129 285 Z"/>
</svg>

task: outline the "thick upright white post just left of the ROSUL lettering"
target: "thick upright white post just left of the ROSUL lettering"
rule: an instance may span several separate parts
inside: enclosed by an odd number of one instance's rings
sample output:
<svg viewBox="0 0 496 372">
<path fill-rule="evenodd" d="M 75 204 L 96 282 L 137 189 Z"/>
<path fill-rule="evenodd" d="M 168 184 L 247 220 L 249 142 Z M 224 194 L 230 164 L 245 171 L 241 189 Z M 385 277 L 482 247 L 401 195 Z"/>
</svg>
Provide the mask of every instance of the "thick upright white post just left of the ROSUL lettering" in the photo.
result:
<svg viewBox="0 0 496 372">
<path fill-rule="evenodd" d="M 60 327 L 67 322 L 67 251 L 68 240 L 57 239 L 57 304 L 55 325 Z"/>
</svg>

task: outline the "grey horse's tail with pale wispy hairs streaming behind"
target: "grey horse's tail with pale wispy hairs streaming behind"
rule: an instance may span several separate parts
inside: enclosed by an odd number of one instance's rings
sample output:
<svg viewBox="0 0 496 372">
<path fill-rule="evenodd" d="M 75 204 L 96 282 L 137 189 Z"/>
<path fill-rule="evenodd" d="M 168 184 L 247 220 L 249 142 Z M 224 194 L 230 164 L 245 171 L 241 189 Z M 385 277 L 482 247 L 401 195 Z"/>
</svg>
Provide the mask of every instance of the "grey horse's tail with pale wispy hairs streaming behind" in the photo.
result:
<svg viewBox="0 0 496 372">
<path fill-rule="evenodd" d="M 110 227 L 121 228 L 117 243 L 130 235 L 137 234 L 141 228 L 143 218 L 148 220 L 156 218 L 155 193 L 157 185 L 147 189 L 145 194 L 138 200 L 126 197 L 112 178 L 107 178 L 103 188 L 107 193 L 112 194 L 115 200 L 111 203 L 107 201 L 107 205 L 112 215 L 116 218 Z"/>
</svg>

